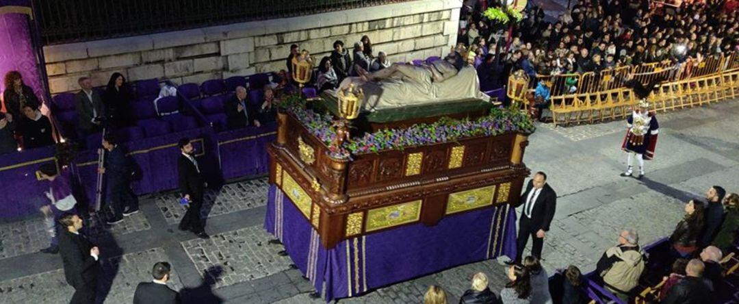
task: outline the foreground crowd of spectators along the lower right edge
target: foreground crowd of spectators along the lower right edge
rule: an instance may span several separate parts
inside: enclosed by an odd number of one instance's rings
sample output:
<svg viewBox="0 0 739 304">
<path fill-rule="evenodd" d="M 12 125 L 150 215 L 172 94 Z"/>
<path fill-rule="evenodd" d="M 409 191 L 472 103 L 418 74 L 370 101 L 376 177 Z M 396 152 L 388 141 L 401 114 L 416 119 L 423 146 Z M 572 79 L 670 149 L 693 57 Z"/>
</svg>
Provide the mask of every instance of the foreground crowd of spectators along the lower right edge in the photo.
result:
<svg viewBox="0 0 739 304">
<path fill-rule="evenodd" d="M 663 251 L 647 254 L 639 243 L 638 232 L 623 229 L 616 246 L 605 250 L 588 278 L 571 265 L 557 270 L 561 284 L 549 286 L 548 274 L 539 260 L 528 256 L 521 265 L 507 269 L 508 283 L 500 293 L 488 287 L 486 274 L 474 274 L 471 288 L 464 292 L 459 303 L 589 303 L 591 299 L 585 291 L 587 280 L 602 285 L 624 303 L 633 303 L 637 294 L 647 286 L 658 286 L 657 283 L 661 285 L 652 294 L 655 298 L 644 300 L 669 304 L 716 303 L 722 295 L 734 293 L 732 286 L 724 282 L 726 271 L 721 263 L 726 254 L 737 252 L 739 195 L 726 195 L 721 186 L 712 186 L 706 191 L 705 202 L 689 200 L 684 209 L 685 216 L 664 243 Z M 717 215 L 709 215 L 705 212 L 708 209 L 718 210 Z M 446 303 L 449 302 L 443 288 L 430 286 L 424 304 Z"/>
</svg>

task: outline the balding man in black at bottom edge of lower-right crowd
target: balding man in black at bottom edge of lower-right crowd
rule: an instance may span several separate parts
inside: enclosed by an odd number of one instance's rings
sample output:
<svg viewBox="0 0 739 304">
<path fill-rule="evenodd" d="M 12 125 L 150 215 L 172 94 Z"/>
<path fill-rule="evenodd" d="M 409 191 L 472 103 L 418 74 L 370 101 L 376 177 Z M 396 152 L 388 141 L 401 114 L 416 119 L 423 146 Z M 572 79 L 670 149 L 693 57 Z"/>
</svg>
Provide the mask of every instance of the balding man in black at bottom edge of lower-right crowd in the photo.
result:
<svg viewBox="0 0 739 304">
<path fill-rule="evenodd" d="M 703 304 L 714 303 L 712 288 L 703 279 L 704 263 L 692 259 L 685 268 L 685 277 L 667 291 L 663 304 Z"/>
</svg>

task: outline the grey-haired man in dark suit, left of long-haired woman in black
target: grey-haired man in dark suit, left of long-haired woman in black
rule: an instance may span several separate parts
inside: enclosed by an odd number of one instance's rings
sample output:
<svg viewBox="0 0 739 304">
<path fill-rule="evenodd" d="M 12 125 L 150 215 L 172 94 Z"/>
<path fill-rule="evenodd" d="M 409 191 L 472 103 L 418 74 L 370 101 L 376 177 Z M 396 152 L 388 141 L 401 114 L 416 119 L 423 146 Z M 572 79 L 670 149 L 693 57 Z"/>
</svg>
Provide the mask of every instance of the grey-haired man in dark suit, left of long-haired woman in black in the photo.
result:
<svg viewBox="0 0 739 304">
<path fill-rule="evenodd" d="M 77 83 L 80 92 L 75 95 L 75 110 L 77 110 L 77 128 L 82 133 L 80 138 L 86 138 L 94 132 L 101 130 L 103 117 L 105 117 L 103 98 L 97 89 L 92 87 L 89 77 L 81 77 Z"/>
</svg>

